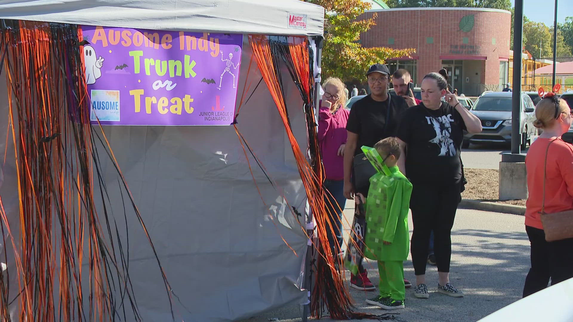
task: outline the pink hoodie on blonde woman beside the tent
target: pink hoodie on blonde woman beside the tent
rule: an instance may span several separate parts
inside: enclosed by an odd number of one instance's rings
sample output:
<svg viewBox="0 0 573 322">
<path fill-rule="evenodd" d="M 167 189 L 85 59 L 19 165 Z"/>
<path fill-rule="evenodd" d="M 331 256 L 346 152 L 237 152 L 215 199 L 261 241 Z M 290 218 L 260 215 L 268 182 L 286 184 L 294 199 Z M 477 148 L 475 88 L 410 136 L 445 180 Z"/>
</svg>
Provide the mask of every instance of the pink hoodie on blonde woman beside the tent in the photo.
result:
<svg viewBox="0 0 573 322">
<path fill-rule="evenodd" d="M 344 180 L 343 156 L 337 153 L 340 145 L 346 144 L 346 122 L 349 113 L 342 104 L 334 114 L 326 107 L 319 110 L 318 139 L 324 172 L 329 180 Z"/>
</svg>

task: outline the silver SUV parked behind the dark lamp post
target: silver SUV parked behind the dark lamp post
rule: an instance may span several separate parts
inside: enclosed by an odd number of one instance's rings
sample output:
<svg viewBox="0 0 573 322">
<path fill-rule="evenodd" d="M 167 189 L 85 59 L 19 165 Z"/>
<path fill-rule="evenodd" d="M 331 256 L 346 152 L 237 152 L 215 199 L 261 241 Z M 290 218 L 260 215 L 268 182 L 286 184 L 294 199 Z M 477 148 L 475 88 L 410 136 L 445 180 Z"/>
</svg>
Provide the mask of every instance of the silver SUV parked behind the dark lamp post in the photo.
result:
<svg viewBox="0 0 573 322">
<path fill-rule="evenodd" d="M 482 94 L 473 104 L 470 112 L 481 120 L 483 131 L 478 134 L 466 133 L 462 148 L 470 143 L 511 143 L 511 96 L 512 92 L 488 92 Z M 521 93 L 521 148 L 525 149 L 535 135 L 535 105 L 528 95 Z"/>
</svg>

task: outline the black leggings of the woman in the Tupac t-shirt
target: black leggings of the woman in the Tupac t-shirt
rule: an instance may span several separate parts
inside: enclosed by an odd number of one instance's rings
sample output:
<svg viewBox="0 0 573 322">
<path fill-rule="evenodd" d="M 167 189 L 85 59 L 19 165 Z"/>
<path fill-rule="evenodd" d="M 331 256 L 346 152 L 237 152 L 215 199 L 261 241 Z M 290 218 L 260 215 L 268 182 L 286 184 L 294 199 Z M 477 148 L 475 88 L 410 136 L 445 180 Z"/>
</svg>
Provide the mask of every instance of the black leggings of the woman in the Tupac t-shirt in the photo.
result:
<svg viewBox="0 0 573 322">
<path fill-rule="evenodd" d="M 411 253 L 414 273 L 426 274 L 430 233 L 434 231 L 434 256 L 438 272 L 450 272 L 452 257 L 452 226 L 461 201 L 460 184 L 437 186 L 413 184 L 410 198 L 412 210 Z"/>
</svg>

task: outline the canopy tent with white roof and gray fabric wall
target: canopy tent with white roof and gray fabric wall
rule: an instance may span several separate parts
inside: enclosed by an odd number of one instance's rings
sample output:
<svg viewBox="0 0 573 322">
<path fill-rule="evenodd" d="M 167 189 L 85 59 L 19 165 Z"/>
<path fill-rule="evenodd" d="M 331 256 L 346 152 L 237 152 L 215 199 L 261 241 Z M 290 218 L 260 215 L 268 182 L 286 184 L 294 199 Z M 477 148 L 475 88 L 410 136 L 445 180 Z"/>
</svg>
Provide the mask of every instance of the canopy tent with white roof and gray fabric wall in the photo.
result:
<svg viewBox="0 0 573 322">
<path fill-rule="evenodd" d="M 289 14 L 306 16 L 305 28 L 289 27 Z M 323 34 L 324 9 L 299 0 L 0 0 L 0 19 L 312 40 Z M 276 186 L 256 166 L 250 172 L 232 126 L 104 126 L 176 295 L 172 299 L 176 320 L 231 321 L 307 302 L 302 287 L 307 237 L 301 230 L 307 196 L 266 85 L 262 82 L 253 91 L 261 73 L 254 62 L 249 69 L 251 55 L 245 37 L 237 95 L 249 85 L 247 79 L 254 84 L 246 93 L 252 97 L 242 105 L 237 127 Z M 319 56 L 315 48 L 316 77 Z M 293 133 L 305 150 L 303 103 L 288 72 L 282 73 L 288 80 L 284 93 Z M 0 133 L 9 128 L 6 91 L 2 75 Z M 11 138 L 7 141 L 2 134 L 0 150 L 6 148 L 14 150 Z M 113 215 L 119 216 L 118 229 L 129 233 L 129 239 L 122 238 L 129 247 L 129 274 L 142 320 L 169 321 L 170 304 L 155 257 L 138 219 L 128 213 L 124 222 L 125 201 L 112 162 L 102 164 L 109 202 L 117 209 Z M 8 158 L 3 172 L 0 195 L 9 220 L 18 222 L 14 160 Z M 10 262 L 8 270 L 15 271 Z M 11 279 L 15 276 L 11 274 Z M 17 293 L 17 287 L 10 291 Z"/>
</svg>

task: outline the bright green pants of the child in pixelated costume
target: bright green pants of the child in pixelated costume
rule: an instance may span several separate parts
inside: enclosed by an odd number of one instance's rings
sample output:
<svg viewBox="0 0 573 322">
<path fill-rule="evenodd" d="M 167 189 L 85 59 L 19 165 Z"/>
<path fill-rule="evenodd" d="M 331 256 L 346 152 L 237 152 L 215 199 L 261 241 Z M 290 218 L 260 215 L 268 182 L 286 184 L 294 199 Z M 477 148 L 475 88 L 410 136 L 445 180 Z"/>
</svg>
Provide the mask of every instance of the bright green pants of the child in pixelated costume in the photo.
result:
<svg viewBox="0 0 573 322">
<path fill-rule="evenodd" d="M 393 300 L 403 301 L 406 299 L 406 287 L 404 286 L 404 263 L 402 261 L 378 262 L 380 273 L 380 296 L 391 297 Z"/>
</svg>

